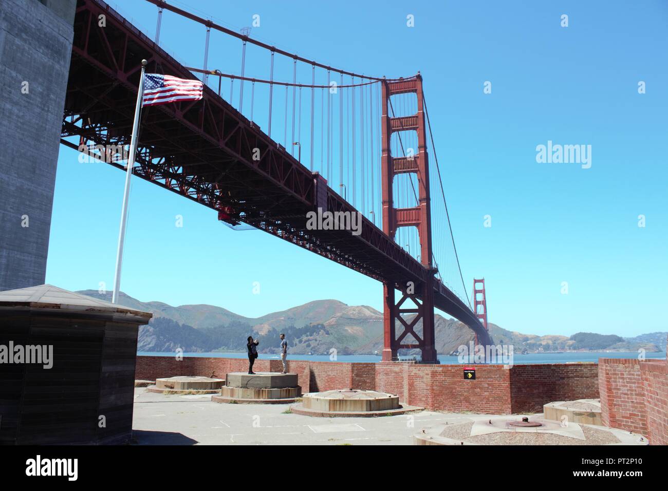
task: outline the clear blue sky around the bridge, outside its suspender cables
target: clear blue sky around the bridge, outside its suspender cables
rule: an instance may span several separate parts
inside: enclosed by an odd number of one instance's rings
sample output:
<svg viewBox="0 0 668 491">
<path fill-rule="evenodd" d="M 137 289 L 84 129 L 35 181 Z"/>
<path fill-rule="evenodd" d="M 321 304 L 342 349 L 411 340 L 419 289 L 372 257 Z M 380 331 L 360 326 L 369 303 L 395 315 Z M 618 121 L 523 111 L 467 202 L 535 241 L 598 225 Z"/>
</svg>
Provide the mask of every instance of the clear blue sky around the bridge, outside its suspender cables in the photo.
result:
<svg viewBox="0 0 668 491">
<path fill-rule="evenodd" d="M 253 37 L 329 65 L 388 77 L 420 70 L 462 271 L 469 292 L 485 277 L 490 322 L 536 334 L 668 330 L 665 1 L 170 3 L 234 29 L 259 14 Z M 111 5 L 154 36 L 154 5 Z M 201 25 L 166 12 L 160 43 L 202 66 Z M 237 48 L 212 36 L 209 67 L 238 73 Z M 246 73 L 266 76 L 255 63 Z M 538 164 L 536 146 L 548 140 L 591 145 L 591 168 Z M 48 283 L 112 289 L 123 185 L 123 172 L 81 164 L 61 146 Z M 382 305 L 376 281 L 264 232 L 232 231 L 138 178 L 122 290 L 252 317 L 317 299 Z"/>
</svg>

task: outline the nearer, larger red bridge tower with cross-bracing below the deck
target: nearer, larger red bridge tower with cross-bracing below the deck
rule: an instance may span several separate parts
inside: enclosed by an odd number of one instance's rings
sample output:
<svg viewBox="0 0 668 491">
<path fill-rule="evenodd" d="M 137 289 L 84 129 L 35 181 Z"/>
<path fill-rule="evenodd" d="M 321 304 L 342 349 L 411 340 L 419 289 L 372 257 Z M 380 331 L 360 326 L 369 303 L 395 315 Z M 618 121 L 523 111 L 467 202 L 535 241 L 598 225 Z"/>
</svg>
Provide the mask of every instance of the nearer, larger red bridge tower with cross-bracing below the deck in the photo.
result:
<svg viewBox="0 0 668 491">
<path fill-rule="evenodd" d="M 434 274 L 436 269 L 432 263 L 432 216 L 430 208 L 429 161 L 425 134 L 425 116 L 422 92 L 422 76 L 382 82 L 382 158 L 381 188 L 383 196 L 383 232 L 394 239 L 397 228 L 415 226 L 420 237 L 420 261 L 428 269 L 428 278 L 422 284 L 394 285 L 383 283 L 383 361 L 398 359 L 399 349 L 420 348 L 422 363 L 438 363 L 434 345 Z M 411 116 L 390 116 L 391 96 L 397 94 L 415 94 L 418 99 L 417 112 Z M 393 112 L 392 112 L 393 114 Z M 390 140 L 394 132 L 414 131 L 418 134 L 418 152 L 414 156 L 405 157 L 391 155 Z M 413 173 L 418 180 L 418 206 L 413 208 L 395 208 L 393 202 L 394 176 Z M 401 299 L 395 299 L 395 288 L 401 290 Z M 407 300 L 415 307 L 403 307 Z M 408 322 L 403 314 L 414 314 Z M 418 321 L 422 320 L 422 338 L 413 331 Z M 401 333 L 395 325 L 403 327 Z M 404 339 L 411 335 L 415 342 L 408 343 Z"/>
</svg>

